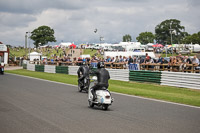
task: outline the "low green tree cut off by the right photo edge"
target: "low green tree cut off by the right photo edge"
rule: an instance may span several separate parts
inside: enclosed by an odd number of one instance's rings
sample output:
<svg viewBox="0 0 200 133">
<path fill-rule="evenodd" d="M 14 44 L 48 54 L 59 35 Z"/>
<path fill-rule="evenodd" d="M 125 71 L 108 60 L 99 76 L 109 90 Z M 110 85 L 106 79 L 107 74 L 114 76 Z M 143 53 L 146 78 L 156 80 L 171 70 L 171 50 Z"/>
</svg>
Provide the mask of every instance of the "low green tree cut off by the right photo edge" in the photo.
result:
<svg viewBox="0 0 200 133">
<path fill-rule="evenodd" d="M 192 35 L 186 36 L 182 43 L 184 44 L 200 44 L 200 32 L 194 33 Z"/>
</svg>

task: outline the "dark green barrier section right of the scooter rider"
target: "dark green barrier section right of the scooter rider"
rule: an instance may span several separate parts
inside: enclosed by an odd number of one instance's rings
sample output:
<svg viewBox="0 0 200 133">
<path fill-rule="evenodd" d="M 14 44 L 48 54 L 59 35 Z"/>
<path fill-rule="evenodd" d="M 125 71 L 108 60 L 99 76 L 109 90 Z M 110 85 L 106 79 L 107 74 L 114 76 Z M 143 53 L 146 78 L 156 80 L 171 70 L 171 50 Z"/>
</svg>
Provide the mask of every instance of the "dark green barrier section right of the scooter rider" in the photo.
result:
<svg viewBox="0 0 200 133">
<path fill-rule="evenodd" d="M 130 81 L 139 81 L 139 82 L 160 83 L 161 72 L 130 71 L 129 72 L 129 80 Z"/>
</svg>

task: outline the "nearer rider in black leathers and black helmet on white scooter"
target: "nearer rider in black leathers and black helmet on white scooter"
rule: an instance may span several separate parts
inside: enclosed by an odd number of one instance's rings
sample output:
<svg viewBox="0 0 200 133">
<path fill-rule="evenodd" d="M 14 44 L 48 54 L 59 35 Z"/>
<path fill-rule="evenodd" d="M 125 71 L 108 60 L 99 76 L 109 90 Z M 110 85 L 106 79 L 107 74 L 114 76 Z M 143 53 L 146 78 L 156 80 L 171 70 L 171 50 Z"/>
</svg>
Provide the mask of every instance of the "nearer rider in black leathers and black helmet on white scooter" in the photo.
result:
<svg viewBox="0 0 200 133">
<path fill-rule="evenodd" d="M 92 73 L 97 75 L 98 83 L 92 87 L 91 92 L 93 95 L 93 101 L 96 99 L 96 90 L 107 89 L 109 84 L 108 80 L 110 79 L 109 72 L 104 68 L 104 62 L 97 63 L 97 70 Z"/>
</svg>

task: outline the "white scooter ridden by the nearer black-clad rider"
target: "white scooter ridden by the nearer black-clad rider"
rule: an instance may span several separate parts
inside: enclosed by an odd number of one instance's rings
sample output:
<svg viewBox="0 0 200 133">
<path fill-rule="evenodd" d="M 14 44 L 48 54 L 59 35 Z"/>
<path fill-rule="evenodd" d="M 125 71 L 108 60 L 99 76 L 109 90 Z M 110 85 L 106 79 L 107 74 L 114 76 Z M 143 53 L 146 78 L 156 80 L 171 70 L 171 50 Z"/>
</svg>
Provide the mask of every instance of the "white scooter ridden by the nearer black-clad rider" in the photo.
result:
<svg viewBox="0 0 200 133">
<path fill-rule="evenodd" d="M 114 101 L 114 99 L 111 97 L 110 92 L 107 89 L 102 89 L 102 90 L 96 90 L 96 96 L 97 98 L 95 99 L 95 101 L 93 101 L 93 95 L 91 92 L 91 88 L 97 83 L 97 77 L 93 76 L 91 78 L 90 81 L 90 87 L 88 90 L 88 102 L 89 102 L 89 106 L 91 108 L 94 107 L 94 105 L 96 106 L 101 106 L 103 110 L 107 110 L 108 106 L 110 106 L 112 104 L 112 102 Z"/>
</svg>

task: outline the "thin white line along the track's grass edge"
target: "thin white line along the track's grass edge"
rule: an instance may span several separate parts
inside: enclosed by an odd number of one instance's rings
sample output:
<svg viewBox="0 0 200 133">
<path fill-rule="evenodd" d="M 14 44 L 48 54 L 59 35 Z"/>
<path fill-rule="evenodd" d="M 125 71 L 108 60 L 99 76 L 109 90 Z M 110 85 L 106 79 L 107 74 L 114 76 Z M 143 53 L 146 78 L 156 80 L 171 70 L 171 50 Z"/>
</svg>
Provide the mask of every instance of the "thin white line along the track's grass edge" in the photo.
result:
<svg viewBox="0 0 200 133">
<path fill-rule="evenodd" d="M 67 83 L 60 83 L 60 82 L 50 81 L 50 80 L 46 80 L 46 79 L 34 78 L 34 77 L 29 77 L 29 76 L 24 76 L 24 75 L 18 75 L 18 74 L 11 74 L 11 73 L 6 73 L 6 74 L 21 76 L 21 77 L 27 77 L 27 78 L 32 78 L 32 79 L 47 81 L 47 82 L 56 83 L 56 84 L 62 84 L 62 85 L 77 87 L 77 85 L 71 85 L 71 84 L 67 84 Z M 117 93 L 117 92 L 112 92 L 112 93 L 113 94 L 117 94 L 117 95 L 122 95 L 122 96 L 128 96 L 128 97 L 134 97 L 134 98 L 139 98 L 139 99 L 144 99 L 144 100 L 150 100 L 150 101 L 155 101 L 155 102 L 169 103 L 169 104 L 174 104 L 174 105 L 179 105 L 179 106 L 185 106 L 185 107 L 200 109 L 200 107 L 192 106 L 192 105 L 186 105 L 186 104 L 180 104 L 180 103 L 174 103 L 174 102 L 167 102 L 167 101 L 162 101 L 162 100 L 157 100 L 157 99 L 152 99 L 152 98 L 145 98 L 145 97 L 140 97 L 140 96 L 122 94 L 122 93 Z"/>
</svg>

